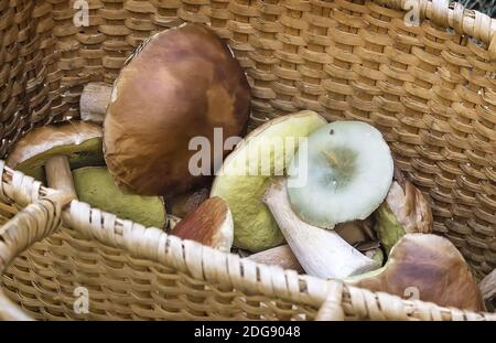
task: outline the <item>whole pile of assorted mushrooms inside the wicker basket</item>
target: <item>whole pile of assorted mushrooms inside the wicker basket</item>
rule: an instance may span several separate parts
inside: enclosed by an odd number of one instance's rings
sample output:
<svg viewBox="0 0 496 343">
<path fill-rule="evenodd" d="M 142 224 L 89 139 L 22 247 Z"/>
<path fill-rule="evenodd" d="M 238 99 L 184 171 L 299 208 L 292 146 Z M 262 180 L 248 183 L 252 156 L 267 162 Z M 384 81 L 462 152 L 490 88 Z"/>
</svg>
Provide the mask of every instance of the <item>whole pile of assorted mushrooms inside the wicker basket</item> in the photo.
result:
<svg viewBox="0 0 496 343">
<path fill-rule="evenodd" d="M 112 87 L 88 85 L 82 121 L 34 129 L 8 164 L 68 199 L 251 260 L 484 310 L 464 258 L 431 234 L 427 200 L 366 122 L 308 110 L 272 119 L 222 165 L 212 157 L 215 180 L 193 175 L 190 141 L 214 143 L 214 128 L 244 136 L 249 104 L 228 46 L 203 25 L 181 25 L 143 42 Z M 271 146 L 287 139 L 296 143 Z"/>
</svg>

